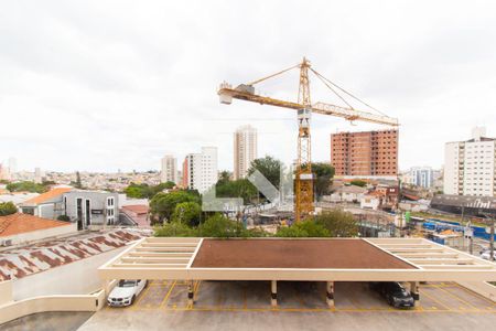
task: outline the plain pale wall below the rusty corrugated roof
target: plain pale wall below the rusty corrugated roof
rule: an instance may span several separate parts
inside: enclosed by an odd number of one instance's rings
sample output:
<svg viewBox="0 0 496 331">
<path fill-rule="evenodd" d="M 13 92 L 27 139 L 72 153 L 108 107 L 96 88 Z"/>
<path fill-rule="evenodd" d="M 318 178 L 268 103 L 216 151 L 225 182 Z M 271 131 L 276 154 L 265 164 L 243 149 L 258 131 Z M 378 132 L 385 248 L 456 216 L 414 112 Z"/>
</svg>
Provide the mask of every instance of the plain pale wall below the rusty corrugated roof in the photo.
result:
<svg viewBox="0 0 496 331">
<path fill-rule="evenodd" d="M 51 295 L 87 295 L 101 289 L 97 268 L 129 246 L 12 280 L 15 300 Z"/>
</svg>

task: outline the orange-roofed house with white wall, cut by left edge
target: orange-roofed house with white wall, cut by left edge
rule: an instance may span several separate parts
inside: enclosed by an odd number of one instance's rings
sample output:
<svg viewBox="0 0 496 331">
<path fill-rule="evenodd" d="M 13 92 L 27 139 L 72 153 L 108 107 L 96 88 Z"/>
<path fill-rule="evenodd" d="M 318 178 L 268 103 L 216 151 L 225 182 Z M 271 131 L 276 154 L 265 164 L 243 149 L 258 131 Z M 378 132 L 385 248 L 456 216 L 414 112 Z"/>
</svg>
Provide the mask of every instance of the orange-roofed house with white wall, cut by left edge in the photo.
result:
<svg viewBox="0 0 496 331">
<path fill-rule="evenodd" d="M 0 246 L 19 245 L 77 232 L 75 224 L 15 213 L 0 216 Z"/>
</svg>

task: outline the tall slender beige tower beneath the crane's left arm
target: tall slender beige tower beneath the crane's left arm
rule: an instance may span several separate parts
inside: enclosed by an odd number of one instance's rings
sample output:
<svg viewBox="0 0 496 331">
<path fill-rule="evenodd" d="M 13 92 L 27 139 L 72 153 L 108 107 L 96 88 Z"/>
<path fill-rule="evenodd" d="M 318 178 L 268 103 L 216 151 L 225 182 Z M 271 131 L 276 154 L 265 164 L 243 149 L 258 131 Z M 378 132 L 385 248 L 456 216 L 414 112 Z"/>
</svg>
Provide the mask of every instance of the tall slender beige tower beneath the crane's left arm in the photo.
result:
<svg viewBox="0 0 496 331">
<path fill-rule="evenodd" d="M 257 129 L 242 126 L 234 134 L 234 179 L 245 178 L 255 159 L 257 159 Z"/>
</svg>

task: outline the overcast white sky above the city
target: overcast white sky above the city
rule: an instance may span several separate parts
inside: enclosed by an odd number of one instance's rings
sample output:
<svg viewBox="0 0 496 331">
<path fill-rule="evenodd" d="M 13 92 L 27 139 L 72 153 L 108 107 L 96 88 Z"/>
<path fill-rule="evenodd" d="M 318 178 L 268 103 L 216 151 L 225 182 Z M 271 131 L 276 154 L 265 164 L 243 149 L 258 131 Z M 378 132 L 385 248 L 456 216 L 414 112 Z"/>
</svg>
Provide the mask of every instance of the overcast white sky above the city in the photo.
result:
<svg viewBox="0 0 496 331">
<path fill-rule="evenodd" d="M 399 167 L 442 167 L 474 126 L 496 137 L 494 1 L 1 1 L 0 161 L 53 171 L 151 170 L 258 129 L 259 157 L 296 156 L 293 110 L 217 87 L 301 62 L 399 119 Z M 298 99 L 298 71 L 256 85 Z M 312 103 L 343 103 L 311 77 Z M 369 111 L 352 103 L 356 109 Z M 386 129 L 312 117 L 312 158 L 330 135 Z"/>
</svg>

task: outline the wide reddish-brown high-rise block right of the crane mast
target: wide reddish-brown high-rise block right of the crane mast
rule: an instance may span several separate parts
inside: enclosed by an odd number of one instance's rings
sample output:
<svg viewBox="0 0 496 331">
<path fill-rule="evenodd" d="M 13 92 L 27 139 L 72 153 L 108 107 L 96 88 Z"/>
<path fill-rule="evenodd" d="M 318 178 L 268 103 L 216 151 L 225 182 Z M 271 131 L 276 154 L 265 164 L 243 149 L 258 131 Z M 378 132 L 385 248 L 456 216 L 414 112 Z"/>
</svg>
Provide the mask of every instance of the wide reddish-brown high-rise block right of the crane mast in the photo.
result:
<svg viewBox="0 0 496 331">
<path fill-rule="evenodd" d="M 336 175 L 397 175 L 398 130 L 331 135 L 331 163 Z"/>
</svg>

